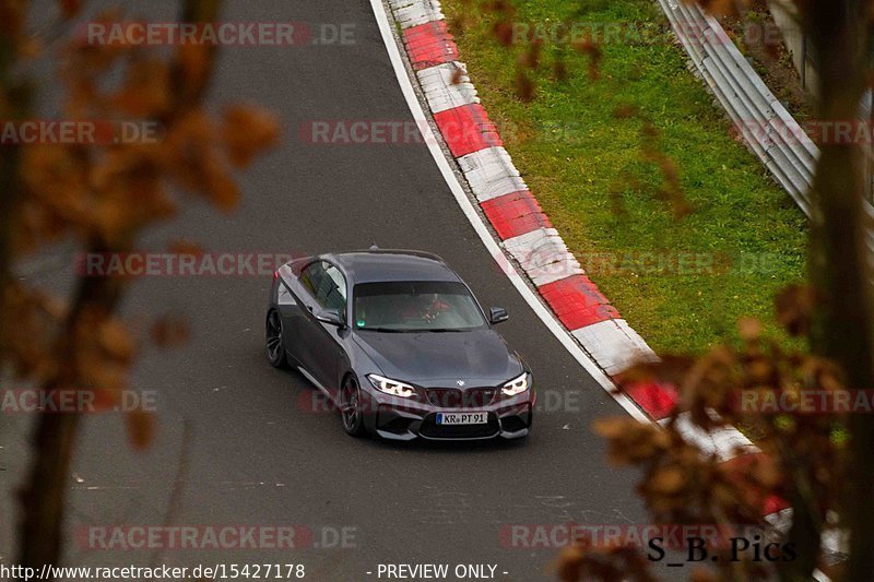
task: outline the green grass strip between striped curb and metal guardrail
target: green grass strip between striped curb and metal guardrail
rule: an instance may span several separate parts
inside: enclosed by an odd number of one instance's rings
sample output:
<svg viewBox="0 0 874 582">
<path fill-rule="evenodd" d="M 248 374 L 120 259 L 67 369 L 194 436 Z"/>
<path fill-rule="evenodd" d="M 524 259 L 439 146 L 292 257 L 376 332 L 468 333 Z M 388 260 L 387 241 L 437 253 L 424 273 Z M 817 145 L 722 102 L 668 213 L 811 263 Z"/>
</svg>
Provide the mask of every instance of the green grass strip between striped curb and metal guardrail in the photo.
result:
<svg viewBox="0 0 874 582">
<path fill-rule="evenodd" d="M 666 24 L 651 0 L 515 4 L 512 20 L 521 23 Z M 588 55 L 547 39 L 540 67 L 530 73 L 535 98 L 523 103 L 515 88 L 522 47 L 498 43 L 492 34 L 495 16 L 485 5 L 444 2 L 461 60 L 517 167 L 581 262 L 593 252 L 717 254 L 733 261 L 733 268 L 706 274 L 591 271 L 631 326 L 657 352 L 698 354 L 735 341 L 735 322 L 743 316 L 771 321 L 777 290 L 804 276 L 805 219 L 731 136 L 728 118 L 688 71 L 682 48 L 669 41 L 603 44 L 593 80 Z M 565 81 L 553 74 L 559 55 L 569 72 Z M 640 115 L 617 117 L 617 108 L 626 106 Z M 645 120 L 659 129 L 658 149 L 678 167 L 693 209 L 683 218 L 659 194 L 659 166 L 641 157 Z M 740 268 L 751 261 L 755 269 Z"/>
</svg>

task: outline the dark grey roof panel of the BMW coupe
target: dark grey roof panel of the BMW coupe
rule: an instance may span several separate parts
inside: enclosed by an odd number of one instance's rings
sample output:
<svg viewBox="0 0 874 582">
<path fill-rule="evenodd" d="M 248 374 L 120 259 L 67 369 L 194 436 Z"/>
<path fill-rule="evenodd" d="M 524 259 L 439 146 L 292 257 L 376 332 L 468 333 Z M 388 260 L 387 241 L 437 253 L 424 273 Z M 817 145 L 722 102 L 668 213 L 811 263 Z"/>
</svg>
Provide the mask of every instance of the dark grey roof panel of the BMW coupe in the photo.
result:
<svg viewBox="0 0 874 582">
<path fill-rule="evenodd" d="M 461 281 L 436 254 L 408 250 L 366 250 L 323 256 L 345 271 L 350 283 Z"/>
</svg>

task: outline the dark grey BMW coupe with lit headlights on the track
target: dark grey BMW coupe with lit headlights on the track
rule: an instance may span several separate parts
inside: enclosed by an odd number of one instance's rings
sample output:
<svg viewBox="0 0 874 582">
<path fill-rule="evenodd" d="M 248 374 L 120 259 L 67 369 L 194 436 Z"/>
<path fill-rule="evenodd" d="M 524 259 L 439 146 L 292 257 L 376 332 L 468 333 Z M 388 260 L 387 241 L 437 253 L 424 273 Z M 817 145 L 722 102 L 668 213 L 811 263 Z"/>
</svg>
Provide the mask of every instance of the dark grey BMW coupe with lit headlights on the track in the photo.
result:
<svg viewBox="0 0 874 582">
<path fill-rule="evenodd" d="M 525 437 L 533 377 L 437 256 L 400 250 L 297 259 L 273 277 L 267 356 L 297 368 L 353 436 Z"/>
</svg>

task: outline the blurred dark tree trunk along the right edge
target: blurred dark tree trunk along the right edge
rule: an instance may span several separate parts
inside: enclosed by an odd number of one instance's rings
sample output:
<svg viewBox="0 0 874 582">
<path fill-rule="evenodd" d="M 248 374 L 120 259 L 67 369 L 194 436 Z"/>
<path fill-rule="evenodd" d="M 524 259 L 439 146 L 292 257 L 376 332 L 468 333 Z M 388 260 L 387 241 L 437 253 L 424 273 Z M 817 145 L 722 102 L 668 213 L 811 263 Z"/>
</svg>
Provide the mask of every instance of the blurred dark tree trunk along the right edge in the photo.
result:
<svg viewBox="0 0 874 582">
<path fill-rule="evenodd" d="M 806 0 L 803 4 L 818 61 L 819 119 L 826 123 L 859 120 L 867 86 L 871 2 Z M 874 289 L 865 240 L 863 147 L 832 140 L 822 144 L 820 155 L 813 192 L 810 277 L 822 302 L 811 346 L 814 354 L 842 367 L 850 390 L 871 389 Z M 851 415 L 848 462 L 853 478 L 843 491 L 842 515 L 851 535 L 847 580 L 874 580 L 874 416 Z M 804 525 L 804 520 L 796 522 Z"/>
</svg>

